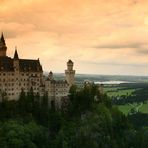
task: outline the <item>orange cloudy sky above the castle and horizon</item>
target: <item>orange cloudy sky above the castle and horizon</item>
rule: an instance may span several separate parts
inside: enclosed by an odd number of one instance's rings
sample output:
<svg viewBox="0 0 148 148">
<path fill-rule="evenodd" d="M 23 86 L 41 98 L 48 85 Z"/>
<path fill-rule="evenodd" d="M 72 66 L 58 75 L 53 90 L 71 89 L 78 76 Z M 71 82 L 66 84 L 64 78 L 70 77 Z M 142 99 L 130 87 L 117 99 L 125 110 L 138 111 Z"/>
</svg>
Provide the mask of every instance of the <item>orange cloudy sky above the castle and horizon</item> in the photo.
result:
<svg viewBox="0 0 148 148">
<path fill-rule="evenodd" d="M 148 0 L 0 0 L 0 32 L 44 71 L 148 76 Z"/>
</svg>

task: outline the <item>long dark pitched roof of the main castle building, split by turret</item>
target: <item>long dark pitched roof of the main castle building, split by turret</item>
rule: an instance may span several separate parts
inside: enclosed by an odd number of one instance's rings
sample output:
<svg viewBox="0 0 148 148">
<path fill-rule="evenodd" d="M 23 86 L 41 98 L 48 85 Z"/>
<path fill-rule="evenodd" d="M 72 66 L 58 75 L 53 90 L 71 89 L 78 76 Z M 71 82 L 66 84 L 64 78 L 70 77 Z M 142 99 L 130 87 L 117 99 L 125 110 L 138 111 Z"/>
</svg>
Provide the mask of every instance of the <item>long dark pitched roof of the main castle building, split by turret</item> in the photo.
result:
<svg viewBox="0 0 148 148">
<path fill-rule="evenodd" d="M 14 71 L 14 59 L 10 57 L 0 57 L 0 72 Z M 42 72 L 39 60 L 19 59 L 19 70 L 21 72 Z"/>
</svg>

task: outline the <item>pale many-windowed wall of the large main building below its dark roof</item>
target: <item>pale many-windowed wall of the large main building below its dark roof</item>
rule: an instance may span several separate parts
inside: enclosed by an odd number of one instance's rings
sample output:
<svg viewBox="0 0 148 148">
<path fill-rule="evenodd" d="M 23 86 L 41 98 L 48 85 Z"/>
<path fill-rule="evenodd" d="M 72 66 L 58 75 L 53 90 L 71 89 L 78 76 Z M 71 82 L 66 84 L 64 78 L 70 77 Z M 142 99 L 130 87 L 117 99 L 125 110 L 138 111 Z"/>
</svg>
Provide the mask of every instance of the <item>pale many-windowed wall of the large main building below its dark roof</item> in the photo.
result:
<svg viewBox="0 0 148 148">
<path fill-rule="evenodd" d="M 0 94 L 9 100 L 17 100 L 22 89 L 29 92 L 31 87 L 34 93 L 39 92 L 42 73 L 38 72 L 0 72 Z"/>
</svg>

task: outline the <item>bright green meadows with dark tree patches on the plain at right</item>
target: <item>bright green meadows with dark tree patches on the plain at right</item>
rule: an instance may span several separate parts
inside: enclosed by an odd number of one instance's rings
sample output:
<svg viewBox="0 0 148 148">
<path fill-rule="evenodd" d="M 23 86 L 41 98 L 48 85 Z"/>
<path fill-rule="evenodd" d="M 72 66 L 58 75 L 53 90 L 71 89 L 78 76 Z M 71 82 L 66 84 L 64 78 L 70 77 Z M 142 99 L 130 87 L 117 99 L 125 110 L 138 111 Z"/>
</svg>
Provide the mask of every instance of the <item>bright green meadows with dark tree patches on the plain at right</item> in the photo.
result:
<svg viewBox="0 0 148 148">
<path fill-rule="evenodd" d="M 147 83 L 104 85 L 104 93 L 125 115 L 136 112 L 148 114 Z"/>
</svg>

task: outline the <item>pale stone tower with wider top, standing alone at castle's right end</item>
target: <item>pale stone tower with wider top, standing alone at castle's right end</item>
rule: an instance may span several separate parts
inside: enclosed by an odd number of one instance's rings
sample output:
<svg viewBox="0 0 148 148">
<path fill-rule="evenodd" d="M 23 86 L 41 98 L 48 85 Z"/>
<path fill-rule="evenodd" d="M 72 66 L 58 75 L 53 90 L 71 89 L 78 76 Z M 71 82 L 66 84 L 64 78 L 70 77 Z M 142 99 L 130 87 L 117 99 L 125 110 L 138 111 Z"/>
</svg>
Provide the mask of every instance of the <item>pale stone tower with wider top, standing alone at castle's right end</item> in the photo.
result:
<svg viewBox="0 0 148 148">
<path fill-rule="evenodd" d="M 74 63 L 69 60 L 67 62 L 67 69 L 65 70 L 66 75 L 66 81 L 69 84 L 69 87 L 71 87 L 74 84 L 74 77 L 75 77 L 75 70 L 73 70 Z"/>
</svg>

